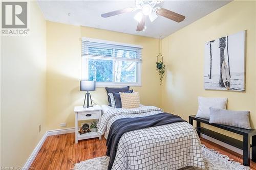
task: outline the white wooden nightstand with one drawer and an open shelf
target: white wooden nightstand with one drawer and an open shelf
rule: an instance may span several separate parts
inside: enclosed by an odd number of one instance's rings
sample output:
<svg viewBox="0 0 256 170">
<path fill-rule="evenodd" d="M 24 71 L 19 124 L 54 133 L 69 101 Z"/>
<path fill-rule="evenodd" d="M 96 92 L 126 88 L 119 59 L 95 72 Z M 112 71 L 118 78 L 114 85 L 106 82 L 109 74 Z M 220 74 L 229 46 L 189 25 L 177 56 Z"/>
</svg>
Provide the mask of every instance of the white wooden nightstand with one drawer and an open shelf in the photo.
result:
<svg viewBox="0 0 256 170">
<path fill-rule="evenodd" d="M 99 135 L 97 132 L 89 132 L 85 134 L 79 134 L 78 133 L 78 121 L 79 120 L 98 120 L 101 118 L 101 107 L 98 105 L 95 105 L 93 107 L 83 107 L 83 106 L 76 106 L 74 109 L 75 112 L 75 143 L 78 143 L 78 140 L 82 139 L 90 139 L 94 137 L 98 137 L 101 139 L 101 135 Z"/>
</svg>

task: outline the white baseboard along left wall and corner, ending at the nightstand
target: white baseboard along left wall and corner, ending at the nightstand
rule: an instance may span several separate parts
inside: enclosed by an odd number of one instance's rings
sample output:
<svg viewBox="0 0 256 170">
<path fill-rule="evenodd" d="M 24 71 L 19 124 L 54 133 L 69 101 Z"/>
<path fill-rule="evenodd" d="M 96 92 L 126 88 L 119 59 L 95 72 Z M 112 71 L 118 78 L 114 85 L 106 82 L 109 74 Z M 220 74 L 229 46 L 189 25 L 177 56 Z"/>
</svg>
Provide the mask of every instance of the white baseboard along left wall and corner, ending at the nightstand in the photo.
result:
<svg viewBox="0 0 256 170">
<path fill-rule="evenodd" d="M 75 128 L 66 128 L 66 129 L 56 129 L 56 130 L 50 130 L 50 131 L 46 131 L 46 133 L 44 134 L 44 136 L 42 136 L 41 140 L 38 142 L 38 144 L 36 145 L 34 151 L 31 153 L 31 155 L 29 156 L 29 159 L 27 160 L 27 162 L 24 164 L 23 169 L 27 169 L 28 167 L 31 166 L 31 164 L 33 163 L 36 155 L 38 154 L 38 152 L 40 151 L 42 144 L 44 144 L 46 138 L 48 136 L 53 136 L 53 135 L 61 135 L 61 134 L 66 134 L 66 133 L 74 133 L 75 132 Z"/>
</svg>

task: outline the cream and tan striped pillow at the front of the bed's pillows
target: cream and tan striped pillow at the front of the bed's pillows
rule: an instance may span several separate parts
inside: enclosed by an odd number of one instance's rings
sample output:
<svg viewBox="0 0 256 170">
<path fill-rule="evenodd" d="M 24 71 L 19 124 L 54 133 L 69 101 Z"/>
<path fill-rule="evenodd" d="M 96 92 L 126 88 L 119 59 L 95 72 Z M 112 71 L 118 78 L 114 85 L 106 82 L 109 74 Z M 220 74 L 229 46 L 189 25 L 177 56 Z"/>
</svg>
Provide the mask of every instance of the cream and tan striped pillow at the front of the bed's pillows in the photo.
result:
<svg viewBox="0 0 256 170">
<path fill-rule="evenodd" d="M 122 108 L 136 108 L 140 107 L 140 93 L 120 93 L 120 98 L 122 102 Z"/>
</svg>

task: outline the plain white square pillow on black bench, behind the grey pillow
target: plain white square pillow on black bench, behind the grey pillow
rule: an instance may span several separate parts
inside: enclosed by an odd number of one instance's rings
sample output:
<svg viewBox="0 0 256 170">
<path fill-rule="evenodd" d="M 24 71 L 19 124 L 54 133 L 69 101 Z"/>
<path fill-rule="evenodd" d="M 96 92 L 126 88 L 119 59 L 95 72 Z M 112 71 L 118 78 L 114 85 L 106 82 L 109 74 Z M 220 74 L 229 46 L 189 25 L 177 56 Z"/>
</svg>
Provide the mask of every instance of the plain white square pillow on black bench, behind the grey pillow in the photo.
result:
<svg viewBox="0 0 256 170">
<path fill-rule="evenodd" d="M 196 117 L 210 118 L 210 107 L 226 109 L 227 98 L 203 98 L 198 97 L 198 111 Z"/>
</svg>

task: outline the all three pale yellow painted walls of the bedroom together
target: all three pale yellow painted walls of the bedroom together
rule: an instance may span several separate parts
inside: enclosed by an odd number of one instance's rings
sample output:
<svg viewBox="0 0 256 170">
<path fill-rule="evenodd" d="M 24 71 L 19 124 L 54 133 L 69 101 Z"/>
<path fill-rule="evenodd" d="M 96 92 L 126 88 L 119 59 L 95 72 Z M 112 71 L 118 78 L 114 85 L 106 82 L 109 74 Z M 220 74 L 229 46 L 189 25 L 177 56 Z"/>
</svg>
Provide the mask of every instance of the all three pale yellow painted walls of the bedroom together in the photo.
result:
<svg viewBox="0 0 256 170">
<path fill-rule="evenodd" d="M 142 104 L 187 119 L 197 112 L 197 96 L 226 97 L 228 109 L 251 111 L 255 127 L 256 2 L 231 2 L 164 38 L 162 86 L 155 67 L 158 39 L 45 21 L 35 2 L 30 7 L 30 35 L 1 37 L 2 166 L 22 166 L 46 130 L 60 129 L 65 122 L 74 127 L 74 106 L 84 99 L 79 91 L 81 37 L 143 46 L 142 87 L 132 87 Z M 204 90 L 205 42 L 241 30 L 247 30 L 246 92 Z M 99 105 L 107 102 L 104 88 L 92 97 Z"/>
</svg>

